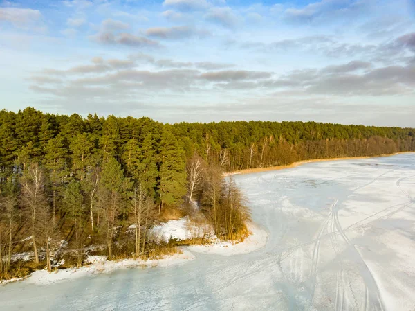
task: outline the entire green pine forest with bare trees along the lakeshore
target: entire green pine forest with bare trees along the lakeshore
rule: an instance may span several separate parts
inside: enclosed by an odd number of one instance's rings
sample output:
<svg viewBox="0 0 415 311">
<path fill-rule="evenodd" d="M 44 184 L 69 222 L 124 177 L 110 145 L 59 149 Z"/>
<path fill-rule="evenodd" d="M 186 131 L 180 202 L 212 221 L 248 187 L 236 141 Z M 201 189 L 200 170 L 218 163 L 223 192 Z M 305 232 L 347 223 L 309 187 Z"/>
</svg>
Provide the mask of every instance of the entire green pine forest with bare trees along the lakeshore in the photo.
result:
<svg viewBox="0 0 415 311">
<path fill-rule="evenodd" d="M 249 215 L 223 172 L 415 150 L 411 128 L 262 121 L 170 125 L 30 107 L 0 112 L 0 141 L 0 276 L 10 272 L 12 253 L 28 249 L 36 265 L 46 260 L 50 269 L 51 249 L 61 238 L 75 250 L 102 243 L 109 258 L 148 254 L 147 228 L 169 211 L 190 215 L 192 206 L 201 208 L 216 235 L 237 238 Z M 120 228 L 128 224 L 136 225 L 135 238 L 123 244 Z M 82 265 L 83 251 L 75 253 Z"/>
</svg>

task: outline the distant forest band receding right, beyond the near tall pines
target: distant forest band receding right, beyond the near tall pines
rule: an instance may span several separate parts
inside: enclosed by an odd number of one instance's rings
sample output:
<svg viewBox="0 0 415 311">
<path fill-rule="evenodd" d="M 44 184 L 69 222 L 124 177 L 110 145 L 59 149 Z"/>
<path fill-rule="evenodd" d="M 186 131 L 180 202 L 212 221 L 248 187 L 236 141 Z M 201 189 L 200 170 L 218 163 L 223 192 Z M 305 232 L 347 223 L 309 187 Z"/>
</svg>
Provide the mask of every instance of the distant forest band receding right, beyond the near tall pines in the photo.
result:
<svg viewBox="0 0 415 311">
<path fill-rule="evenodd" d="M 178 123 L 187 153 L 197 150 L 225 171 L 309 159 L 375 156 L 415 150 L 415 130 L 315 122 Z"/>
</svg>

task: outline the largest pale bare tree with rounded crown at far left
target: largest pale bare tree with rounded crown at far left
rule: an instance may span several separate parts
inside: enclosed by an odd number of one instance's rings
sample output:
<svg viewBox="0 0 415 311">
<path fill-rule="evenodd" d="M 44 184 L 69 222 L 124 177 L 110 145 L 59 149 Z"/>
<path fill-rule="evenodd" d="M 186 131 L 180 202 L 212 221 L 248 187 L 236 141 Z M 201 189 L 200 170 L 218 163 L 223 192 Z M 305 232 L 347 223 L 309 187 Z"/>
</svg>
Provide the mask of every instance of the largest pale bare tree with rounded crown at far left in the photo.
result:
<svg viewBox="0 0 415 311">
<path fill-rule="evenodd" d="M 38 209 L 46 204 L 46 195 L 44 193 L 44 174 L 37 163 L 31 164 L 24 171 L 24 175 L 21 178 L 21 190 L 22 203 L 30 218 L 35 262 L 39 263 L 36 245 L 37 213 Z"/>
</svg>

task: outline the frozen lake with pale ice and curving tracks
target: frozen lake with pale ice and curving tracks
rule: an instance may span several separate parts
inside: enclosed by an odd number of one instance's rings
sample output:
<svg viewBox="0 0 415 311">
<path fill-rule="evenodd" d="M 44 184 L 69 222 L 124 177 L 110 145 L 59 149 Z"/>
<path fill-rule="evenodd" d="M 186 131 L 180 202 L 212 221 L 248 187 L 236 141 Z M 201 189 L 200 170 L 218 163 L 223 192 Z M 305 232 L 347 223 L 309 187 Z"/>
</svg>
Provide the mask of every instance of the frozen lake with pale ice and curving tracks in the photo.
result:
<svg viewBox="0 0 415 311">
<path fill-rule="evenodd" d="M 250 254 L 0 287 L 0 310 L 415 310 L 415 154 L 236 175 Z"/>
</svg>

